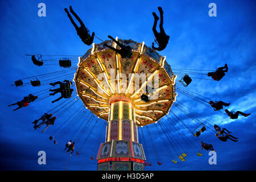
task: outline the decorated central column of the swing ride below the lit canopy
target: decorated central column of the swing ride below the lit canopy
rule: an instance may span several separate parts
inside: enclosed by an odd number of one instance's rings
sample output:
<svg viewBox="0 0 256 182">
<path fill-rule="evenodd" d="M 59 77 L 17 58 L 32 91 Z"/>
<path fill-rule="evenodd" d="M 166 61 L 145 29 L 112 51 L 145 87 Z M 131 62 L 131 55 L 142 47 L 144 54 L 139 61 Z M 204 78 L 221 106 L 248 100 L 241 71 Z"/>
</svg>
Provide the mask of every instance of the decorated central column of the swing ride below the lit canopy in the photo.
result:
<svg viewBox="0 0 256 182">
<path fill-rule="evenodd" d="M 98 171 L 143 171 L 144 151 L 138 143 L 133 101 L 123 95 L 109 99 L 106 140 L 97 154 Z"/>
</svg>

